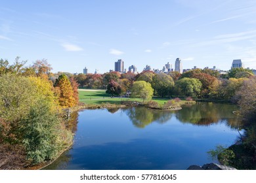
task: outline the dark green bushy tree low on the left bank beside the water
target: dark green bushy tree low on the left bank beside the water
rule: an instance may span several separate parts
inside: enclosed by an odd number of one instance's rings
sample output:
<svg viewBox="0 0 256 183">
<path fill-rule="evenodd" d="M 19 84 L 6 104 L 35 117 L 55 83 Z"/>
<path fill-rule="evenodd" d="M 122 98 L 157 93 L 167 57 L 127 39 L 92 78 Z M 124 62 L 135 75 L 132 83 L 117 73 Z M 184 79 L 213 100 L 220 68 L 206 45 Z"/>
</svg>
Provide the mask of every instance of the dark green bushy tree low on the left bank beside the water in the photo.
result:
<svg viewBox="0 0 256 183">
<path fill-rule="evenodd" d="M 45 101 L 39 101 L 31 107 L 28 116 L 20 123 L 22 143 L 26 148 L 27 158 L 33 164 L 56 157 L 60 148 L 57 144 L 60 121 Z"/>
</svg>

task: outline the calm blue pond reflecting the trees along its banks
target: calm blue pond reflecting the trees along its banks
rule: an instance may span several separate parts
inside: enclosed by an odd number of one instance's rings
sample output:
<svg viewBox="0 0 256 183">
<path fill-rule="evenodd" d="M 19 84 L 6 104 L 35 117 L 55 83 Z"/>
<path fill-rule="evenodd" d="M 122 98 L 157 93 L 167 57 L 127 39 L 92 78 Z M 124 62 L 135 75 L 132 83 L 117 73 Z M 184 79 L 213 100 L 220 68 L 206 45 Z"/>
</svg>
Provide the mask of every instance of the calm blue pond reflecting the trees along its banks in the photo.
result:
<svg viewBox="0 0 256 183">
<path fill-rule="evenodd" d="M 235 105 L 197 103 L 181 110 L 145 107 L 73 114 L 72 149 L 45 169 L 187 169 L 215 162 L 207 152 L 238 138 Z M 242 132 L 241 132 L 242 133 Z"/>
</svg>

